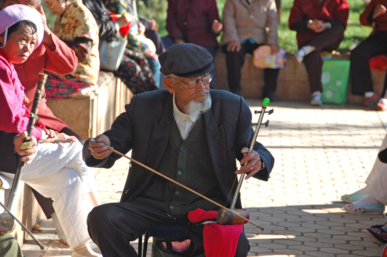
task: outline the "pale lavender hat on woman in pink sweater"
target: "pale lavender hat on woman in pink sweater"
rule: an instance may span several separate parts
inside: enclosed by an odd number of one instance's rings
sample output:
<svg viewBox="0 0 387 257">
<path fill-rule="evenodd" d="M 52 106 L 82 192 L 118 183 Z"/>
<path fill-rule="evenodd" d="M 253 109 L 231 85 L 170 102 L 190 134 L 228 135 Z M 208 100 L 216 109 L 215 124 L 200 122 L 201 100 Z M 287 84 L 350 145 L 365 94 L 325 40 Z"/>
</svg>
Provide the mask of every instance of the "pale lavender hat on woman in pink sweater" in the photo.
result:
<svg viewBox="0 0 387 257">
<path fill-rule="evenodd" d="M 7 42 L 8 28 L 22 20 L 31 20 L 36 25 L 36 43 L 37 48 L 42 43 L 44 27 L 39 12 L 27 5 L 10 5 L 0 11 L 0 34 L 5 31 L 4 44 Z"/>
</svg>

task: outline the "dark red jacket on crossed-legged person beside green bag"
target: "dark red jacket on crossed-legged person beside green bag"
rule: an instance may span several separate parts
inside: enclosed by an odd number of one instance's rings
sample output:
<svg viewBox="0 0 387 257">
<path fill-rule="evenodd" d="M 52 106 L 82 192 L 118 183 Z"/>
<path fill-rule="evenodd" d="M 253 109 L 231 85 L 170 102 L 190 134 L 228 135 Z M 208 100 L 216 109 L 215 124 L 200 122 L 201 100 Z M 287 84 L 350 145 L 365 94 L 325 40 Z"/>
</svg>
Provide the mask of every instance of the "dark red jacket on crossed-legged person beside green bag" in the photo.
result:
<svg viewBox="0 0 387 257">
<path fill-rule="evenodd" d="M 289 15 L 289 28 L 297 32 L 297 43 L 315 39 L 320 33 L 307 28 L 308 20 L 318 19 L 333 26 L 347 26 L 349 6 L 347 0 L 295 0 Z"/>
</svg>

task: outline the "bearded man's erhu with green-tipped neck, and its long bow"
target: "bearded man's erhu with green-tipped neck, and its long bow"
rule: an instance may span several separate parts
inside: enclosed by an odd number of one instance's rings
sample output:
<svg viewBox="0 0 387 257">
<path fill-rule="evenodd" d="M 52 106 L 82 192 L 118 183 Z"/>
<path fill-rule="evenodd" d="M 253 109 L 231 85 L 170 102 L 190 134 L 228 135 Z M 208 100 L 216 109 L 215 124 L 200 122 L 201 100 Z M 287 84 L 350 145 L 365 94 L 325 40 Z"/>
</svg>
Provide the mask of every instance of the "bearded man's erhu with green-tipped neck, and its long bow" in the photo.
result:
<svg viewBox="0 0 387 257">
<path fill-rule="evenodd" d="M 261 113 L 261 115 L 260 115 L 260 117 L 259 117 L 259 122 L 258 122 L 258 123 L 252 123 L 252 124 L 251 124 L 252 126 L 259 125 L 259 127 L 260 127 L 261 122 L 262 122 L 262 118 L 263 118 L 263 114 L 262 114 L 262 113 L 267 113 L 267 112 L 268 112 L 269 114 L 272 114 L 272 113 L 273 113 L 273 110 L 270 110 L 270 111 L 264 111 L 264 109 L 266 109 L 266 107 L 267 107 L 268 104 L 269 104 L 269 99 L 268 99 L 268 98 L 265 98 L 265 99 L 264 99 L 264 105 L 262 106 L 262 111 L 255 111 L 255 112 L 254 112 L 255 114 Z M 269 125 L 269 121 L 266 121 L 266 123 L 263 123 L 262 125 L 265 125 L 265 126 L 267 127 L 267 126 Z M 255 131 L 255 133 L 254 133 L 254 139 L 253 139 L 253 142 L 255 142 L 255 139 L 257 138 L 257 134 L 258 134 L 258 131 L 259 131 L 259 127 L 256 129 L 256 131 Z M 96 141 L 94 138 L 89 138 L 89 140 L 90 140 L 90 141 L 94 141 L 94 142 Z M 254 146 L 254 145 L 253 145 L 253 143 L 252 143 L 252 146 L 250 147 L 250 151 L 252 151 L 253 146 Z M 245 224 L 245 223 L 249 222 L 249 223 L 251 223 L 252 225 L 256 226 L 257 228 L 260 228 L 261 230 L 263 230 L 263 228 L 262 228 L 261 226 L 259 226 L 259 225 L 255 224 L 254 222 L 248 220 L 248 218 L 246 217 L 246 215 L 243 215 L 243 213 L 241 213 L 239 210 L 235 211 L 235 210 L 233 210 L 233 209 L 228 209 L 228 208 L 222 206 L 221 204 L 216 203 L 215 201 L 209 199 L 208 197 L 205 197 L 205 196 L 203 196 L 202 194 L 200 194 L 200 193 L 198 193 L 198 192 L 196 192 L 196 191 L 190 189 L 189 187 L 184 186 L 183 184 L 180 184 L 179 182 L 176 182 L 176 181 L 173 180 L 173 179 L 170 179 L 170 178 L 167 177 L 166 175 L 161 174 L 160 172 L 158 172 L 158 171 L 156 171 L 156 170 L 154 170 L 154 169 L 152 169 L 152 168 L 150 168 L 150 167 L 148 167 L 148 166 L 146 166 L 146 165 L 144 165 L 144 164 L 138 162 L 137 160 L 134 160 L 133 158 L 128 157 L 127 155 L 125 155 L 125 154 L 123 154 L 123 153 L 121 153 L 121 152 L 115 150 L 114 148 L 112 148 L 112 147 L 110 147 L 110 146 L 107 146 L 107 148 L 108 148 L 109 150 L 111 150 L 111 151 L 117 153 L 118 155 L 121 155 L 122 157 L 125 157 L 125 158 L 127 158 L 128 160 L 130 160 L 130 161 L 132 161 L 132 162 L 134 162 L 134 163 L 137 163 L 137 164 L 140 165 L 141 167 L 144 167 L 144 168 L 146 168 L 147 170 L 149 170 L 149 171 L 151 171 L 151 172 L 153 172 L 153 173 L 155 173 L 155 174 L 157 174 L 157 175 L 163 177 L 164 179 L 167 179 L 167 180 L 169 180 L 169 181 L 175 183 L 176 185 L 181 186 L 181 187 L 183 187 L 184 189 L 187 189 L 188 191 L 190 191 L 190 192 L 196 194 L 197 196 L 200 196 L 200 197 L 202 197 L 203 199 L 206 199 L 207 201 L 209 201 L 209 202 L 215 204 L 216 206 L 222 208 L 223 210 L 225 210 L 226 213 L 231 213 L 231 215 L 233 215 L 233 217 L 235 216 L 235 217 L 237 217 L 237 218 L 241 221 L 241 222 L 239 222 L 239 223 L 230 223 L 230 224 Z M 246 165 L 246 164 L 247 164 L 247 163 L 245 163 L 245 165 Z M 244 175 L 244 174 L 243 174 L 243 175 Z M 243 177 L 241 177 L 241 180 L 242 180 L 242 179 L 243 179 Z M 239 185 L 238 185 L 238 186 L 239 186 Z M 240 188 L 240 187 L 241 187 L 241 182 L 240 182 L 239 188 Z M 237 192 L 239 192 L 239 190 L 237 190 Z M 236 196 L 238 196 L 238 195 L 236 194 Z M 236 199 L 236 197 L 234 197 L 234 199 Z M 236 202 L 236 200 L 235 200 L 235 202 Z M 234 207 L 235 207 L 235 203 L 234 203 Z M 219 222 L 219 220 L 218 220 L 218 222 Z M 219 222 L 219 223 L 220 223 L 220 222 Z M 223 225 L 223 223 L 220 223 L 220 224 Z"/>
</svg>

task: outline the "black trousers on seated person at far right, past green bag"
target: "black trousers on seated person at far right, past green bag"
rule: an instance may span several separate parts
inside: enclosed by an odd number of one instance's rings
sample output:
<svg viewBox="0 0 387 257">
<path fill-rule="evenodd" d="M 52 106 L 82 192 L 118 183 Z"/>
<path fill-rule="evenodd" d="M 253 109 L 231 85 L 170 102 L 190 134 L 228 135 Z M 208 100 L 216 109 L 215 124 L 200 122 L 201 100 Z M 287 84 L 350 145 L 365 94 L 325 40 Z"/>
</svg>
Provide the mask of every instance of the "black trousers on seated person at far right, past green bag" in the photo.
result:
<svg viewBox="0 0 387 257">
<path fill-rule="evenodd" d="M 387 31 L 377 31 L 361 42 L 351 51 L 351 85 L 352 93 L 363 95 L 364 92 L 373 92 L 373 83 L 370 71 L 370 58 L 379 54 L 387 54 Z M 387 90 L 387 73 L 384 79 L 382 96 Z"/>
</svg>

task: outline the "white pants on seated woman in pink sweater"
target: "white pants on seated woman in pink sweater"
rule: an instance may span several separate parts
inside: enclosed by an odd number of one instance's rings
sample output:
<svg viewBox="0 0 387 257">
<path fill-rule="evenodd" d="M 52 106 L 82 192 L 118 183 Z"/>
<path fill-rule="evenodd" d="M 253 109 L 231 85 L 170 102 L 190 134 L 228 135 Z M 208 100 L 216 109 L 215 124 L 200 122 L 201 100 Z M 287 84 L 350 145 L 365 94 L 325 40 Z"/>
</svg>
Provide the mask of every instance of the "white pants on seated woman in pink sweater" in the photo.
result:
<svg viewBox="0 0 387 257">
<path fill-rule="evenodd" d="M 1 174 L 14 177 L 14 174 Z M 86 194 L 96 186 L 92 169 L 82 160 L 82 145 L 38 144 L 37 156 L 29 165 L 24 165 L 21 180 L 53 199 L 53 208 L 71 249 L 91 240 L 86 225 L 91 206 Z"/>
</svg>

